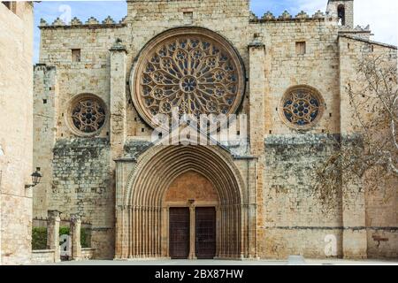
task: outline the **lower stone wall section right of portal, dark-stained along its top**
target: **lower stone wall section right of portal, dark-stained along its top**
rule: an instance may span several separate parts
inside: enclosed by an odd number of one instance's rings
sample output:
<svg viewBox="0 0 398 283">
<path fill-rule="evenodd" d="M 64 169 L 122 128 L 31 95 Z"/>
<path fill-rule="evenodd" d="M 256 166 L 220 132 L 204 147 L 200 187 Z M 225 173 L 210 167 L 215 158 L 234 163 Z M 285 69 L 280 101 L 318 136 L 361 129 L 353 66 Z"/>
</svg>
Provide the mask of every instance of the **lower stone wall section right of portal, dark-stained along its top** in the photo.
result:
<svg viewBox="0 0 398 283">
<path fill-rule="evenodd" d="M 315 171 L 336 150 L 338 135 L 274 135 L 265 139 L 263 221 L 259 254 L 325 257 L 325 237 L 337 240 L 341 256 L 341 195 L 332 207 L 319 203 Z"/>
</svg>

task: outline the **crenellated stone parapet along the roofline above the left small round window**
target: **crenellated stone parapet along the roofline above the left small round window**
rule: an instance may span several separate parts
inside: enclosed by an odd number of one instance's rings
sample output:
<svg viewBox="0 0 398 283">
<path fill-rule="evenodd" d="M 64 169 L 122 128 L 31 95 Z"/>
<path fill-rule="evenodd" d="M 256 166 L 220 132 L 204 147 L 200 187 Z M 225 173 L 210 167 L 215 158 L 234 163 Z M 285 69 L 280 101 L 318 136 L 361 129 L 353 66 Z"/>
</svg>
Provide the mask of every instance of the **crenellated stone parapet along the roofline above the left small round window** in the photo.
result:
<svg viewBox="0 0 398 283">
<path fill-rule="evenodd" d="M 80 27 L 80 28 L 106 28 L 106 27 L 125 27 L 126 17 L 116 22 L 111 16 L 99 21 L 95 17 L 88 18 L 84 23 L 82 20 L 74 17 L 69 23 L 65 23 L 63 19 L 57 18 L 51 24 L 49 24 L 45 19 L 40 19 L 39 28 L 67 28 L 67 27 Z"/>
</svg>

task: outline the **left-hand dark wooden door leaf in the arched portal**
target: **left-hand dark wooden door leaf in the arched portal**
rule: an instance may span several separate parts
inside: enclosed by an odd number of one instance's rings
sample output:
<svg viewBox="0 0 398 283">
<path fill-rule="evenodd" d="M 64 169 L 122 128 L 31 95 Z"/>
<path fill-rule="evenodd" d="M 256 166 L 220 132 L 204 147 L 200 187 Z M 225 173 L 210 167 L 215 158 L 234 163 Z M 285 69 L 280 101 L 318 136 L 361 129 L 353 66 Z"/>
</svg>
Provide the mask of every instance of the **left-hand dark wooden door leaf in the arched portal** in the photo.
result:
<svg viewBox="0 0 398 283">
<path fill-rule="evenodd" d="M 170 208 L 170 257 L 187 259 L 189 256 L 189 208 Z"/>
</svg>

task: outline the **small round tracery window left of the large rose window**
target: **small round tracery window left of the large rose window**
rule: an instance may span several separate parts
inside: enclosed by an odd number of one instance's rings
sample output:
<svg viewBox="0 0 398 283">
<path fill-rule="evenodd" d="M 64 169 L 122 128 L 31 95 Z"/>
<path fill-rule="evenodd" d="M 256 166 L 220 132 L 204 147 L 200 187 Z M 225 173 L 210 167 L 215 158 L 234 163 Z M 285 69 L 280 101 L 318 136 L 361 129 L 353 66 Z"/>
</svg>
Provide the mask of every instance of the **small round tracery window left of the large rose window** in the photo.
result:
<svg viewBox="0 0 398 283">
<path fill-rule="evenodd" d="M 105 124 L 105 105 L 96 96 L 79 96 L 71 103 L 69 119 L 77 134 L 96 134 Z"/>
</svg>

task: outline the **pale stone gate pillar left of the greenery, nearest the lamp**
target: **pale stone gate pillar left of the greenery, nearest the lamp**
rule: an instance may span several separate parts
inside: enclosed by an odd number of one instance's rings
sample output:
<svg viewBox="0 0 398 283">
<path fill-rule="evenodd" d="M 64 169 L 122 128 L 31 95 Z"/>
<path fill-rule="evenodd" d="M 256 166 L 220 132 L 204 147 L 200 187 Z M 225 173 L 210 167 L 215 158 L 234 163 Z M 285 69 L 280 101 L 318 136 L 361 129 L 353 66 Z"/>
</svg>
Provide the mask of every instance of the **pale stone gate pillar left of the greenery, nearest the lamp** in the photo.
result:
<svg viewBox="0 0 398 283">
<path fill-rule="evenodd" d="M 61 251 L 59 248 L 59 218 L 60 212 L 57 210 L 48 211 L 47 220 L 47 249 L 54 249 L 54 262 L 61 261 Z"/>
</svg>

